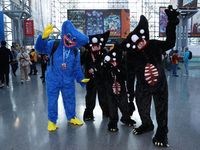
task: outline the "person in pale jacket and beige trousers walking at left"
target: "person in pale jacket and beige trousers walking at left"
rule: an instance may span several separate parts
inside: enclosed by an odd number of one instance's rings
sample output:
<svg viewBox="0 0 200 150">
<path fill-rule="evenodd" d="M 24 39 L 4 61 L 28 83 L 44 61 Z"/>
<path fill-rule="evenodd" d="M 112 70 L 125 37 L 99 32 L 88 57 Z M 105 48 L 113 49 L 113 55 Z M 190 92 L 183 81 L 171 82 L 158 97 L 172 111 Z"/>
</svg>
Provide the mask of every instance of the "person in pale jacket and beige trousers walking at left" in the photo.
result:
<svg viewBox="0 0 200 150">
<path fill-rule="evenodd" d="M 30 81 L 30 78 L 28 77 L 30 57 L 29 54 L 25 52 L 24 47 L 21 47 L 21 52 L 17 55 L 17 60 L 20 62 L 21 83 L 24 82 L 24 75 L 26 81 Z"/>
</svg>

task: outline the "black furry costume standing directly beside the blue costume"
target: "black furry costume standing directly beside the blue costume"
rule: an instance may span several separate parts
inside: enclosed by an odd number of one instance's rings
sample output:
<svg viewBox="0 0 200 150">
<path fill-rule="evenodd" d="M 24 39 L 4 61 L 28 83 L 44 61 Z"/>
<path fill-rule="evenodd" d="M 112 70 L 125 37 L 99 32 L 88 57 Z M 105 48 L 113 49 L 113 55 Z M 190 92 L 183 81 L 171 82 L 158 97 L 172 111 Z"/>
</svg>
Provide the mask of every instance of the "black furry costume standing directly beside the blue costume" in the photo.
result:
<svg viewBox="0 0 200 150">
<path fill-rule="evenodd" d="M 102 66 L 104 55 L 107 51 L 104 49 L 108 40 L 110 32 L 104 34 L 96 34 L 89 36 L 89 43 L 84 45 L 88 50 L 81 55 L 81 64 L 85 67 L 85 77 L 90 78 L 86 85 L 86 108 L 83 119 L 93 120 L 93 110 L 96 104 L 96 93 L 103 115 L 108 117 L 108 105 L 105 85 L 104 72 L 105 68 Z"/>
</svg>

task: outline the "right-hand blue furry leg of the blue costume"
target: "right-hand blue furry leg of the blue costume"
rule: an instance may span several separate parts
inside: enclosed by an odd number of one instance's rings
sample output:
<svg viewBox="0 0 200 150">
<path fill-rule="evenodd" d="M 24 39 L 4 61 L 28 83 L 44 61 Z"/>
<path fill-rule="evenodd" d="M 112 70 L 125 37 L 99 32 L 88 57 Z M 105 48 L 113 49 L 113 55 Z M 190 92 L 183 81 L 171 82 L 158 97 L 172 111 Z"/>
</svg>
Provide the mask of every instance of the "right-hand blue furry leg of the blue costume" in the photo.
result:
<svg viewBox="0 0 200 150">
<path fill-rule="evenodd" d="M 63 104 L 67 120 L 71 120 L 76 116 L 76 98 L 75 98 L 75 83 L 65 85 L 61 88 Z"/>
</svg>

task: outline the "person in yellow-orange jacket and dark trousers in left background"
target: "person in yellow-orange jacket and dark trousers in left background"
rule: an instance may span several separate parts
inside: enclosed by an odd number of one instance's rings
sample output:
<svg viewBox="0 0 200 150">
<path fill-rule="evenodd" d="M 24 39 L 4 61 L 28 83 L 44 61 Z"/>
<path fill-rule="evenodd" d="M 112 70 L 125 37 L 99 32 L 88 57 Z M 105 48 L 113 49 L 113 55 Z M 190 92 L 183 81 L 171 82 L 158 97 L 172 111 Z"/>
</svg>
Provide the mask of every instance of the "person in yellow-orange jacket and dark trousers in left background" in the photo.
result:
<svg viewBox="0 0 200 150">
<path fill-rule="evenodd" d="M 36 68 L 37 54 L 35 52 L 35 49 L 31 49 L 30 61 L 32 62 L 32 65 L 30 65 L 30 73 L 29 73 L 29 75 L 32 75 L 32 71 L 34 71 L 33 75 L 37 75 L 37 72 L 38 72 L 37 68 Z"/>
</svg>

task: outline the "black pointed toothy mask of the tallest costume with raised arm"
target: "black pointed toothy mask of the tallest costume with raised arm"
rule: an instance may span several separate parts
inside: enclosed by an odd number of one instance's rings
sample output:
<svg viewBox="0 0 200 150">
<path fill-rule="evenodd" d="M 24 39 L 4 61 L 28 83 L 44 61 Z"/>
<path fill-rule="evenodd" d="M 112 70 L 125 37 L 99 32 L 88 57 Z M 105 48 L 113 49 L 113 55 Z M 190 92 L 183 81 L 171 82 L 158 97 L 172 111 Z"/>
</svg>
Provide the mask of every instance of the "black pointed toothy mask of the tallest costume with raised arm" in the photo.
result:
<svg viewBox="0 0 200 150">
<path fill-rule="evenodd" d="M 138 26 L 126 37 L 122 45 L 127 51 L 136 52 L 143 49 L 148 44 L 148 40 L 148 21 L 145 16 L 142 15 Z"/>
</svg>

